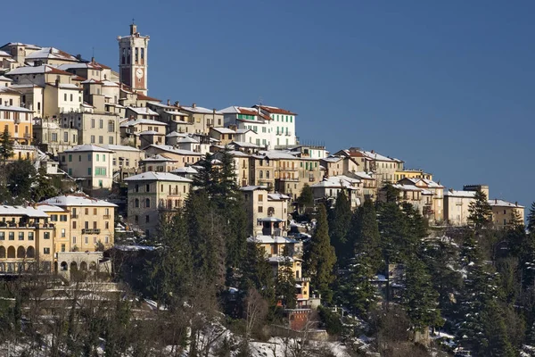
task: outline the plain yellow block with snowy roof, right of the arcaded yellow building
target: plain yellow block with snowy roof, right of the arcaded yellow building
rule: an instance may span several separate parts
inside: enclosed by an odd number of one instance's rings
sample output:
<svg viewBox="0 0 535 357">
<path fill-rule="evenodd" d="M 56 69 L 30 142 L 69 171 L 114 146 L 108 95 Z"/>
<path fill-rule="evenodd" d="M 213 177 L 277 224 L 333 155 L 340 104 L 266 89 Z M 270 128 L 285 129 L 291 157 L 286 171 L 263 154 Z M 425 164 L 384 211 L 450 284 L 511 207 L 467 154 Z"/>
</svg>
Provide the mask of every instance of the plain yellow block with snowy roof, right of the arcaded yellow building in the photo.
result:
<svg viewBox="0 0 535 357">
<path fill-rule="evenodd" d="M 104 249 L 114 244 L 116 204 L 85 194 L 59 195 L 39 204 L 62 208 L 62 212 L 52 212 L 48 208 L 45 210 L 51 215 L 57 214 L 60 223 L 65 220 L 70 222 L 69 225 L 63 225 L 68 227 L 65 232 L 68 239 L 63 239 L 63 232 L 60 231 L 58 252 L 62 252 L 63 244 L 65 252 L 95 252 L 100 244 Z M 62 218 L 65 216 L 63 212 L 69 214 Z"/>
</svg>

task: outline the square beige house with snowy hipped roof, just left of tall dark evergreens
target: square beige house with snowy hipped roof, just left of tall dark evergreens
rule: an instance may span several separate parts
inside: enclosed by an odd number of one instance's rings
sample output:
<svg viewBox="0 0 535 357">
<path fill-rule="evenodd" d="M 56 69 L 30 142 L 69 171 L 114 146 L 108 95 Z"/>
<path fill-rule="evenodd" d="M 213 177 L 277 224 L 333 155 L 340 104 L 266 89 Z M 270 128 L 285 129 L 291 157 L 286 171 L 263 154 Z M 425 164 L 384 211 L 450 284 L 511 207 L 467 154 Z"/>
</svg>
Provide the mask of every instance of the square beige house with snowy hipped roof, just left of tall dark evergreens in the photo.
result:
<svg viewBox="0 0 535 357">
<path fill-rule="evenodd" d="M 144 172 L 125 179 L 128 183 L 128 223 L 147 236 L 156 233 L 161 214 L 181 208 L 191 179 L 169 172 Z"/>
</svg>

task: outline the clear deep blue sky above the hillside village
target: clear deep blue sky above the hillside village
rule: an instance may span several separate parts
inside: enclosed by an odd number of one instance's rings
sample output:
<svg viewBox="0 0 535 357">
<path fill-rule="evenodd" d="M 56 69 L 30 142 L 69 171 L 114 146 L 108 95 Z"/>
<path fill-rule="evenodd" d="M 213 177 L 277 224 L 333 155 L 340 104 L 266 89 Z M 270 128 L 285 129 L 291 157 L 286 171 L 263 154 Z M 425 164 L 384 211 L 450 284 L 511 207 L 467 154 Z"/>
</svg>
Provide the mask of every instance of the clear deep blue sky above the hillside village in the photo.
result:
<svg viewBox="0 0 535 357">
<path fill-rule="evenodd" d="M 448 188 L 535 201 L 533 1 L 12 2 L 0 42 L 117 69 L 135 19 L 149 95 L 297 112 L 301 143 L 374 150 Z M 7 30 L 10 29 L 10 30 Z"/>
</svg>

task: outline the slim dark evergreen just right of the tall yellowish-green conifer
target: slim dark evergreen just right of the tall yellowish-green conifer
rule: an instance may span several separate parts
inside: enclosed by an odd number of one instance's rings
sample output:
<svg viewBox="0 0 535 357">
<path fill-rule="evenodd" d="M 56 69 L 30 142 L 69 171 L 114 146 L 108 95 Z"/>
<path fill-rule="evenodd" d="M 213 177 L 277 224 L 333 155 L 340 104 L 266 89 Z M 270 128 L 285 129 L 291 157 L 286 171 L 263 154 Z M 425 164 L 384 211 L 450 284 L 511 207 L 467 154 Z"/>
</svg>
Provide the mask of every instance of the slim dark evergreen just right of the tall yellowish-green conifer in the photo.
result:
<svg viewBox="0 0 535 357">
<path fill-rule="evenodd" d="M 339 265 L 343 266 L 343 262 L 350 256 L 352 250 L 347 237 L 351 222 L 351 205 L 343 189 L 336 197 L 334 209 L 329 210 L 329 213 L 329 236 Z"/>
</svg>

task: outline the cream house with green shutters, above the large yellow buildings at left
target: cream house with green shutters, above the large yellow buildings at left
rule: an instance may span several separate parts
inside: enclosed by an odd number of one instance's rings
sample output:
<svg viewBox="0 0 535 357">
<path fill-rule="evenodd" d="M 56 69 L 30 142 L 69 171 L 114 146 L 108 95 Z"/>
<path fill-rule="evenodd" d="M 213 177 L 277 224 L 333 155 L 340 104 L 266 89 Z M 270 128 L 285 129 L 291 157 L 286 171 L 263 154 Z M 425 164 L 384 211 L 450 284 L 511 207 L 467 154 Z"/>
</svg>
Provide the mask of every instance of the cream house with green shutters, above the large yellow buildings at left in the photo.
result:
<svg viewBox="0 0 535 357">
<path fill-rule="evenodd" d="M 86 190 L 110 189 L 113 152 L 97 145 L 78 145 L 60 154 L 62 170 L 79 179 Z"/>
</svg>

